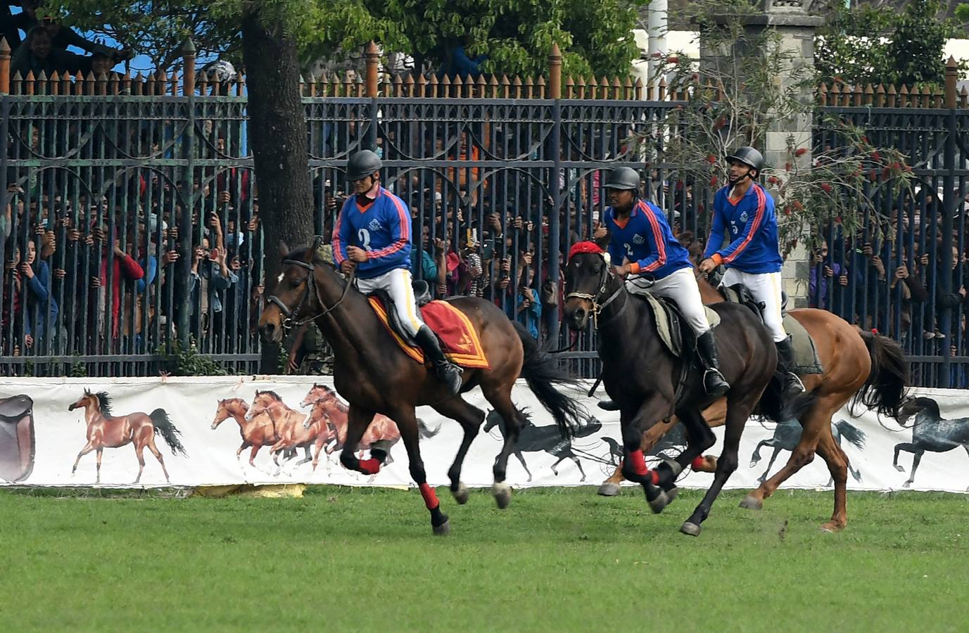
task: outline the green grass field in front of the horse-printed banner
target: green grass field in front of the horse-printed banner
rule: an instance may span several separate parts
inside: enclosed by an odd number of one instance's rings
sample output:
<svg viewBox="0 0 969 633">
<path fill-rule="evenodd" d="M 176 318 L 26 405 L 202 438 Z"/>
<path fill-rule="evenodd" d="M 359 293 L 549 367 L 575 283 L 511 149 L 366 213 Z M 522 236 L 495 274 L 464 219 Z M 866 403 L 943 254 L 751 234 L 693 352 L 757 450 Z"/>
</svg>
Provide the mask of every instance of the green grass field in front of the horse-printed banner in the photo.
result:
<svg viewBox="0 0 969 633">
<path fill-rule="evenodd" d="M 302 499 L 0 492 L 0 631 L 965 630 L 969 497 L 311 488 Z M 785 526 L 786 522 L 786 526 Z"/>
</svg>

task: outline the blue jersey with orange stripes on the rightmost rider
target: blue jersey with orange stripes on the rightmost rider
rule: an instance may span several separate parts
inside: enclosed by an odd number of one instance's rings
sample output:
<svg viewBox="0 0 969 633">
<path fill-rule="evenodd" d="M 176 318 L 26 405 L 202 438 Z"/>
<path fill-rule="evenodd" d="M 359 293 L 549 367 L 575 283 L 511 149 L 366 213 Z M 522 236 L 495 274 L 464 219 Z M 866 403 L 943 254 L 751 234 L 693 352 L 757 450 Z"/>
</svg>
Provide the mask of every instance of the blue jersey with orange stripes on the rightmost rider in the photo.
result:
<svg viewBox="0 0 969 633">
<path fill-rule="evenodd" d="M 730 234 L 730 244 L 723 247 L 725 232 Z M 780 272 L 784 259 L 774 199 L 763 187 L 754 183 L 740 198 L 731 198 L 724 187 L 713 196 L 713 222 L 703 256 L 744 273 Z"/>
</svg>

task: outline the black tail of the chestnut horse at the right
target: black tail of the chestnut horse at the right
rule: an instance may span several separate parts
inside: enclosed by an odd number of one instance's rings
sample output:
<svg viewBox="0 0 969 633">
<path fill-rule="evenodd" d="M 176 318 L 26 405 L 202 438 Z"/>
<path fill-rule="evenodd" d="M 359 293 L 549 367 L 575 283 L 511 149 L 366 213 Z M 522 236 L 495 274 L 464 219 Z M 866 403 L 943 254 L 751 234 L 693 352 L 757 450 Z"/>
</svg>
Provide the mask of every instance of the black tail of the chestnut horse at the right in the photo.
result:
<svg viewBox="0 0 969 633">
<path fill-rule="evenodd" d="M 857 417 L 855 407 L 861 404 L 876 410 L 879 415 L 897 418 L 901 407 L 909 400 L 909 368 L 905 350 L 881 334 L 863 330 L 859 334 L 871 356 L 871 372 L 852 398 L 849 411 Z"/>
</svg>

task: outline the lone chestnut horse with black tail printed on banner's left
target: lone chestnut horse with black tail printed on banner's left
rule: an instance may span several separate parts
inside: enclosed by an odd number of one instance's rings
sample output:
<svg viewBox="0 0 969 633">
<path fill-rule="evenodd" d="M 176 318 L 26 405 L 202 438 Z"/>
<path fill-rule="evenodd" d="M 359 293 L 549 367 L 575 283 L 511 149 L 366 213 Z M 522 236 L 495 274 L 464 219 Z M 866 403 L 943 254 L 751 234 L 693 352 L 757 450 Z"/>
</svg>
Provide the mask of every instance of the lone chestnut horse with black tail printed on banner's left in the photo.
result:
<svg viewBox="0 0 969 633">
<path fill-rule="evenodd" d="M 71 468 L 71 474 L 78 470 L 80 458 L 91 451 L 98 452 L 98 477 L 96 483 L 101 483 L 101 454 L 104 449 L 118 448 L 125 444 L 135 445 L 135 455 L 138 457 L 138 477 L 135 483 L 141 481 L 141 472 L 144 470 L 144 448 L 147 447 L 151 454 L 155 456 L 158 463 L 162 465 L 162 472 L 165 473 L 165 481 L 169 479 L 168 468 L 165 467 L 165 460 L 155 446 L 155 435 L 161 435 L 165 442 L 172 449 L 172 455 L 181 453 L 186 455 L 185 447 L 182 446 L 178 436 L 181 432 L 172 424 L 169 414 L 164 408 L 156 408 L 150 414 L 129 413 L 128 415 L 111 415 L 111 399 L 107 391 L 100 391 L 96 394 L 84 389 L 84 395 L 78 402 L 74 403 L 67 410 L 73 411 L 76 408 L 84 409 L 84 420 L 87 423 L 87 443 L 78 453 L 78 459 Z"/>
</svg>

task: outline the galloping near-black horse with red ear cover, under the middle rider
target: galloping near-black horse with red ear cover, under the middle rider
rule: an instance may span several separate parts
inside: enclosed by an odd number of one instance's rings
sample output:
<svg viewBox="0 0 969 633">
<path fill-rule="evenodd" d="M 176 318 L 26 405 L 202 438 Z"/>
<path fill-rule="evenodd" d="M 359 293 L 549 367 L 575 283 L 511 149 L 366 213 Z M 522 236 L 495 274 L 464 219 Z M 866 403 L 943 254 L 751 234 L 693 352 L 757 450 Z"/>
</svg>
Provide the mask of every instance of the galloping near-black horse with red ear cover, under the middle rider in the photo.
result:
<svg viewBox="0 0 969 633">
<path fill-rule="evenodd" d="M 598 247 L 591 243 L 577 247 L 566 265 L 564 316 L 574 330 L 584 329 L 589 317 L 595 316 L 603 385 L 619 406 L 625 448 L 623 475 L 640 483 L 650 508 L 660 512 L 675 495 L 676 476 L 695 460 L 702 460 L 703 451 L 716 441 L 701 413 L 712 404 L 703 391 L 703 371 L 689 352 L 680 359 L 664 346 L 656 334 L 652 310 L 626 291 Z M 774 420 L 780 417 L 777 350 L 760 318 L 737 304 L 722 303 L 714 309 L 722 319 L 714 330 L 721 372 L 731 390 L 724 450 L 713 484 L 680 528 L 691 536 L 700 534 L 713 501 L 737 467 L 737 449 L 747 419 L 755 410 Z M 640 448 L 642 433 L 673 413 L 686 428 L 686 450 L 650 472 Z"/>
</svg>

